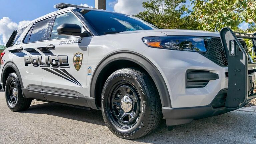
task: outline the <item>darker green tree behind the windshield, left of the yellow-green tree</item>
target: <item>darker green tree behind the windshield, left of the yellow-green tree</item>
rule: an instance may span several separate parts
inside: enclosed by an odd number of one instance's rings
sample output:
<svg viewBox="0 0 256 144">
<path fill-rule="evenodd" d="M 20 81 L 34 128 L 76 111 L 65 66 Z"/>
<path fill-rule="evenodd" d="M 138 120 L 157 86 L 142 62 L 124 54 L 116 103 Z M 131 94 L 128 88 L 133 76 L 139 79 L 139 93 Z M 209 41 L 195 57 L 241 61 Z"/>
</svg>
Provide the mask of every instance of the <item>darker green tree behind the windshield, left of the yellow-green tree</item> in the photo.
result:
<svg viewBox="0 0 256 144">
<path fill-rule="evenodd" d="M 198 22 L 190 18 L 186 0 L 150 0 L 143 2 L 145 11 L 135 15 L 161 29 L 196 29 Z"/>
</svg>

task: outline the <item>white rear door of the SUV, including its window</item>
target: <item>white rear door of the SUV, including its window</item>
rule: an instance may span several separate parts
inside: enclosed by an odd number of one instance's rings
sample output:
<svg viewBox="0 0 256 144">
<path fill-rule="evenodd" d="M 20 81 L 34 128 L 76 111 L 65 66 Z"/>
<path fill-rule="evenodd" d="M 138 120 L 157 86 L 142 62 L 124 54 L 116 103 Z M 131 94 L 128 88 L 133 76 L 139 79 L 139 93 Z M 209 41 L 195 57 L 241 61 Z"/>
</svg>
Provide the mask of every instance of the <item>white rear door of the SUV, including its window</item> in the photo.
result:
<svg viewBox="0 0 256 144">
<path fill-rule="evenodd" d="M 27 98 L 45 100 L 42 94 L 43 69 L 45 55 L 43 53 L 46 40 L 46 32 L 51 18 L 46 18 L 30 25 L 23 39 L 23 43 L 17 46 L 16 58 L 13 62 L 17 65 L 24 85 L 23 92 Z"/>
</svg>

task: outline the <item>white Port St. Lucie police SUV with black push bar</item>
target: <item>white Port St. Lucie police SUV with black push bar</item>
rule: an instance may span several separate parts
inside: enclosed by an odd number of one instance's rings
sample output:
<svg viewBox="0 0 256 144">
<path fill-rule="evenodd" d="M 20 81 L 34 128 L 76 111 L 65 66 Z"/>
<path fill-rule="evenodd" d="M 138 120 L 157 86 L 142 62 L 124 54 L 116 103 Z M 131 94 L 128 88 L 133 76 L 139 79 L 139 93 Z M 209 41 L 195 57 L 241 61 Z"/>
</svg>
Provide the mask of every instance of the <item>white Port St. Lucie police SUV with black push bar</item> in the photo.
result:
<svg viewBox="0 0 256 144">
<path fill-rule="evenodd" d="M 32 99 L 102 111 L 118 137 L 136 139 L 164 117 L 169 129 L 238 109 L 255 98 L 243 38 L 163 30 L 139 18 L 71 4 L 14 30 L 1 53 L 10 110 Z"/>
</svg>

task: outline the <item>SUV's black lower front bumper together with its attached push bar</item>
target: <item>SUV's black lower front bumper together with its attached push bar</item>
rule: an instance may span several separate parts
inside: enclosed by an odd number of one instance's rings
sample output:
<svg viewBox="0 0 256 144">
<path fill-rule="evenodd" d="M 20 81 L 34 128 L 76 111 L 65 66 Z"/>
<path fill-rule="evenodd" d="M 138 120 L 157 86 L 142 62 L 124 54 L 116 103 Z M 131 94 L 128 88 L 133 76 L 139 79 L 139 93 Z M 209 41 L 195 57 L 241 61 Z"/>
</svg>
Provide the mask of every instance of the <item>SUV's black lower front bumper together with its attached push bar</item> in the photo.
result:
<svg viewBox="0 0 256 144">
<path fill-rule="evenodd" d="M 228 60 L 228 88 L 219 92 L 225 97 L 223 105 L 214 106 L 214 101 L 219 100 L 218 94 L 212 103 L 207 106 L 162 107 L 167 126 L 185 124 L 195 119 L 227 113 L 243 107 L 256 97 L 254 85 L 250 83 L 251 77 L 248 77 L 248 74 L 256 71 L 253 69 L 256 67 L 256 63 L 248 64 L 248 54 L 238 40 L 238 38 L 252 39 L 255 49 L 256 35 L 234 33 L 230 28 L 223 28 L 220 31 L 220 37 Z"/>
</svg>

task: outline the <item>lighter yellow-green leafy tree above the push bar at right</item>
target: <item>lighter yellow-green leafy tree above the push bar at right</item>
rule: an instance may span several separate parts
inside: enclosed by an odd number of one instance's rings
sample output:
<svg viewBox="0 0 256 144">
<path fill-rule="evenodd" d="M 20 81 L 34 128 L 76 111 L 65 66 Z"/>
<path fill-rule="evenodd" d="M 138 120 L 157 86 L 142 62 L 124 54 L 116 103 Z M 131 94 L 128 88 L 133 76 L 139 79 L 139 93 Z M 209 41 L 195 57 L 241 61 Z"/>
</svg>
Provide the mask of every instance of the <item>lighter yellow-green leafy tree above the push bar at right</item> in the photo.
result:
<svg viewBox="0 0 256 144">
<path fill-rule="evenodd" d="M 190 0 L 194 5 L 192 18 L 199 22 L 199 28 L 220 31 L 223 27 L 233 30 L 254 32 L 256 30 L 256 0 Z M 248 29 L 239 29 L 246 22 Z"/>
</svg>

